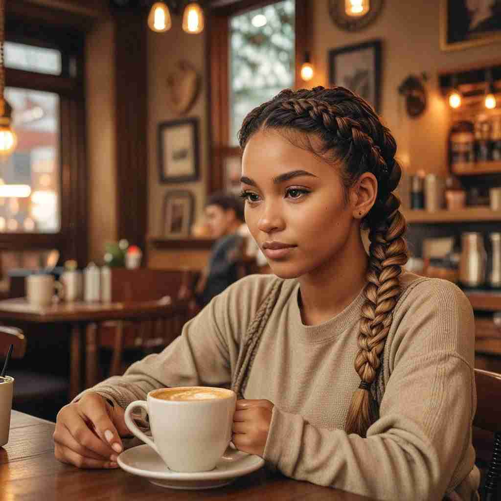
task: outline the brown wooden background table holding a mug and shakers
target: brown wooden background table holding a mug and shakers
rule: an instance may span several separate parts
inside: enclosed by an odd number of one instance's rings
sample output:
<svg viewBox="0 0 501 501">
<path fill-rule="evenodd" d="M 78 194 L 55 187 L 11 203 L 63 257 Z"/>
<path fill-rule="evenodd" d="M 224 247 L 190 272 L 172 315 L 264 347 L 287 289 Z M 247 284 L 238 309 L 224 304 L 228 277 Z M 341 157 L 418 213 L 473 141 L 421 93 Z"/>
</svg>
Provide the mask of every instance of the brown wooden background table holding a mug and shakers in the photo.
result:
<svg viewBox="0 0 501 501">
<path fill-rule="evenodd" d="M 66 323 L 71 326 L 70 397 L 84 389 L 82 373 L 85 365 L 85 387 L 96 384 L 98 349 L 95 329 L 89 324 L 109 320 L 141 320 L 168 316 L 183 308 L 173 305 L 168 296 L 158 301 L 127 303 L 55 303 L 48 307 L 29 304 L 25 298 L 0 301 L 0 320 L 35 324 Z"/>
</svg>

